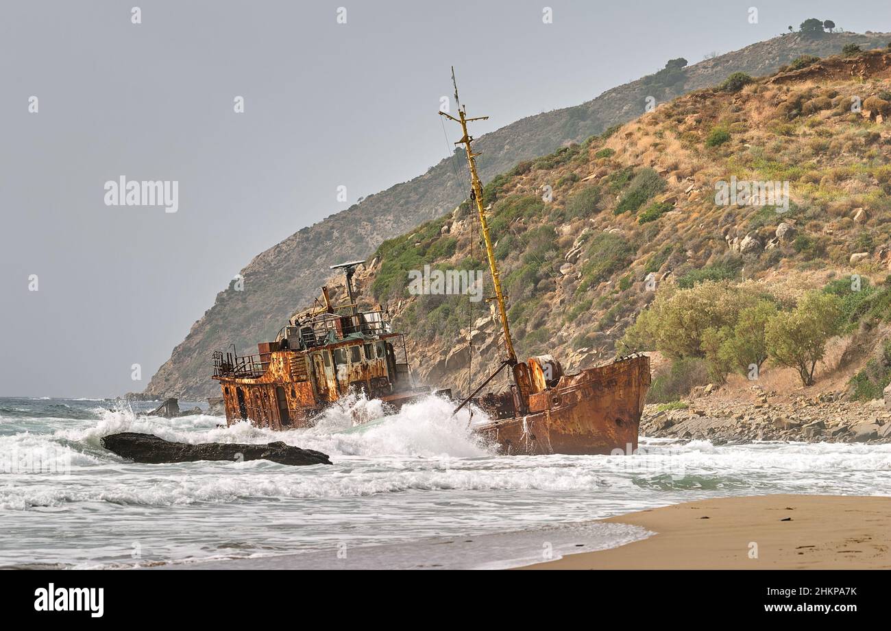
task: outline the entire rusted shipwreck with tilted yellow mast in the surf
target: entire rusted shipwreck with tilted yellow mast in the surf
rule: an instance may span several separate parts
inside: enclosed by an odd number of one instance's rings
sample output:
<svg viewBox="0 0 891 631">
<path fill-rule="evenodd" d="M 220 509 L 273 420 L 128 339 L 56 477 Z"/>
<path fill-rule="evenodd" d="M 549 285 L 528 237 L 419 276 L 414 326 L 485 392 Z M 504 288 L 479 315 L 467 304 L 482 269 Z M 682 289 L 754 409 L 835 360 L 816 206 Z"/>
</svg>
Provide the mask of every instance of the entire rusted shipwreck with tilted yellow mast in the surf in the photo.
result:
<svg viewBox="0 0 891 631">
<path fill-rule="evenodd" d="M 454 82 L 454 71 L 453 71 Z M 467 124 L 488 117 L 468 118 L 459 103 L 458 117 L 439 113 L 461 126 L 462 144 L 470 170 L 470 201 L 475 206 L 485 243 L 489 274 L 501 324 L 503 360 L 494 373 L 455 408 L 472 404 L 486 413 L 473 431 L 499 445 L 508 455 L 630 454 L 637 448 L 638 425 L 650 387 L 650 358 L 620 357 L 578 373 L 563 372 L 553 356 L 519 361 L 511 338 L 506 297 L 489 226 L 483 208 L 473 138 Z M 226 422 L 248 421 L 260 427 L 288 430 L 311 426 L 326 406 L 350 392 L 364 391 L 398 408 L 418 397 L 448 390 L 413 384 L 404 336 L 393 330 L 381 307 L 360 310 L 352 284 L 352 261 L 332 269 L 345 272 L 348 302 L 334 306 L 329 290 L 314 307 L 295 315 L 273 341 L 257 345 L 257 354 L 238 356 L 235 350 L 217 351 L 213 377 L 220 382 Z M 480 395 L 499 373 L 508 370 L 510 386 Z"/>
</svg>

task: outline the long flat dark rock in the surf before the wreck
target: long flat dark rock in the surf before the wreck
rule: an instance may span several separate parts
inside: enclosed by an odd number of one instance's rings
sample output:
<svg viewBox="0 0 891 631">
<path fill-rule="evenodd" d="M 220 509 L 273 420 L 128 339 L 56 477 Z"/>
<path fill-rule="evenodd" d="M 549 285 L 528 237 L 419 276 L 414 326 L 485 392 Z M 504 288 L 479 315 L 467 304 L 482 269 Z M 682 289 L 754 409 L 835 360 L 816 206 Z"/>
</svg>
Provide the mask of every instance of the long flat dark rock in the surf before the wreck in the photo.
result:
<svg viewBox="0 0 891 631">
<path fill-rule="evenodd" d="M 102 438 L 102 447 L 136 463 L 192 463 L 199 460 L 271 460 L 274 463 L 331 464 L 328 455 L 312 449 L 291 447 L 279 441 L 268 445 L 226 443 L 174 443 L 153 434 L 125 431 Z"/>
</svg>

